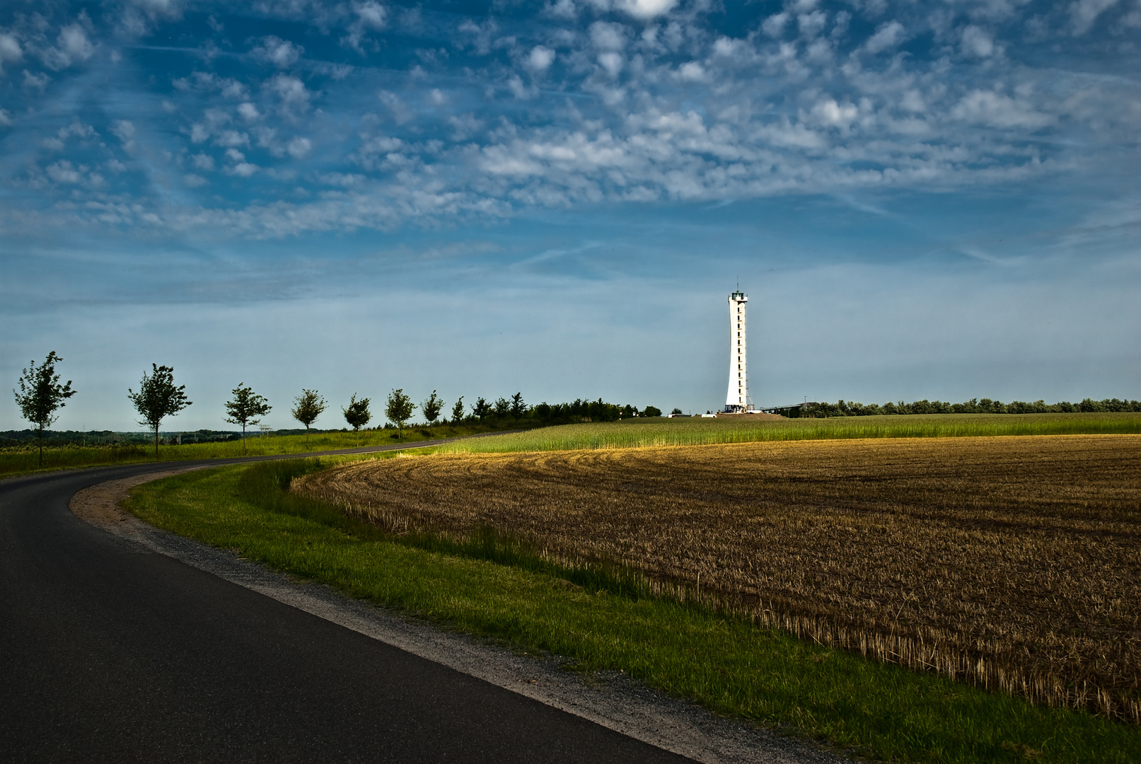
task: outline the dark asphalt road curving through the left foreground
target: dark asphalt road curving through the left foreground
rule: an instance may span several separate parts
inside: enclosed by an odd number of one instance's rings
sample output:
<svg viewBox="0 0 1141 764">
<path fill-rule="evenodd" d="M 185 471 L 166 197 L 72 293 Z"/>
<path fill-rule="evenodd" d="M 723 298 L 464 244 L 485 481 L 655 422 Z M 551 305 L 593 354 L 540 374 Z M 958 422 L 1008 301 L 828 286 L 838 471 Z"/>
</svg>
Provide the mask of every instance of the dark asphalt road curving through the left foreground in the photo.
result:
<svg viewBox="0 0 1141 764">
<path fill-rule="evenodd" d="M 0 482 L 0 761 L 688 761 L 67 509 L 88 486 L 178 465 Z"/>
</svg>

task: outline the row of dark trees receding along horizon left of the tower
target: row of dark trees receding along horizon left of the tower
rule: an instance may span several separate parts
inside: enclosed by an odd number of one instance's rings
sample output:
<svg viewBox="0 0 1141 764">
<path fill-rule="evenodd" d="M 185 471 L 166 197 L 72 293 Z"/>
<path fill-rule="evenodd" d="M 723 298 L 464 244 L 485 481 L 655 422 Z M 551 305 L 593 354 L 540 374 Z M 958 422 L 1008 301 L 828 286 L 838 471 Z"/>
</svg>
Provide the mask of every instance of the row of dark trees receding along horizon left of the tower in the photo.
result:
<svg viewBox="0 0 1141 764">
<path fill-rule="evenodd" d="M 59 417 L 59 409 L 76 392 L 72 388 L 71 380 L 66 383 L 60 382 L 60 375 L 56 372 L 56 366 L 60 361 L 63 358 L 56 355 L 55 350 L 48 353 L 42 364 L 37 365 L 34 360 L 31 361 L 27 368 L 22 369 L 18 381 L 19 390 L 13 390 L 21 414 L 37 428 L 41 466 L 43 465 L 43 431 Z M 138 423 L 154 432 L 155 454 L 159 453 L 159 429 L 162 421 L 193 405 L 186 395 L 186 385 L 175 384 L 175 369 L 157 364 L 151 364 L 151 373 L 143 372 L 137 392 L 133 388 L 127 389 L 127 397 L 140 416 Z M 290 414 L 305 426 L 306 444 L 308 444 L 309 429 L 317 417 L 329 408 L 329 403 L 317 390 L 302 388 L 301 395 L 294 398 L 292 404 Z M 349 403 L 341 408 L 341 415 L 354 431 L 358 431 L 372 421 L 371 405 L 371 398 L 357 398 L 354 392 Z M 470 409 L 464 407 L 461 396 L 452 405 L 451 422 L 446 417 L 440 420 L 444 407 L 444 400 L 436 395 L 435 390 L 416 406 L 403 388 L 397 388 L 389 392 L 385 401 L 385 416 L 393 426 L 397 428 L 398 437 L 403 437 L 404 429 L 415 415 L 416 408 L 420 409 L 429 426 L 437 423 L 501 423 L 508 418 L 515 422 L 526 420 L 535 424 L 613 422 L 624 416 L 662 415 L 661 409 L 655 406 L 647 406 L 639 412 L 638 408 L 630 405 L 617 406 L 604 403 L 601 398 L 598 400 L 577 399 L 570 404 L 550 405 L 542 403 L 537 406 L 528 406 L 524 401 L 521 392 L 516 392 L 510 398 L 497 398 L 494 401 L 477 398 Z M 273 411 L 273 406 L 264 396 L 254 392 L 251 387 L 238 382 L 237 387 L 230 391 L 229 400 L 225 401 L 224 409 L 224 421 L 242 428 L 244 452 L 246 429 L 259 424 Z"/>
</svg>

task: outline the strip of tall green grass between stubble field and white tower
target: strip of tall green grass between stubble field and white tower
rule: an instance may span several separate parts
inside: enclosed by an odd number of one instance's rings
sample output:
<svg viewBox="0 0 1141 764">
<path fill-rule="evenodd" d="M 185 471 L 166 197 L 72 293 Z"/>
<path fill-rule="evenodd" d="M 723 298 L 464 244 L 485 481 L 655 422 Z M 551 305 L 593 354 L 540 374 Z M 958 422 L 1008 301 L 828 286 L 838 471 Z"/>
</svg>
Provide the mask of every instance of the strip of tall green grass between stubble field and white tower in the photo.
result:
<svg viewBox="0 0 1141 764">
<path fill-rule="evenodd" d="M 631 418 L 566 424 L 442 446 L 443 453 L 545 452 L 647 446 L 701 446 L 840 438 L 1136 434 L 1141 414 L 899 414 L 826 420 Z"/>
</svg>

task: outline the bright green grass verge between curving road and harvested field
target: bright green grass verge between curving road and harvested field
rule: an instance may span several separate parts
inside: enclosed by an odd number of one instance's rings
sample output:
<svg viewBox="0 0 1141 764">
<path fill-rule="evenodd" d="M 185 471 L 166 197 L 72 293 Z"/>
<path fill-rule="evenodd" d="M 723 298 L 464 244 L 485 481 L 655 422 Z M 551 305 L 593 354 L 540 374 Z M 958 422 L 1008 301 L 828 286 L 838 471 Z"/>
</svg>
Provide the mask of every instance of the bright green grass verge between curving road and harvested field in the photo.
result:
<svg viewBox="0 0 1141 764">
<path fill-rule="evenodd" d="M 329 461 L 324 462 L 326 465 Z M 467 544 L 390 537 L 284 495 L 293 462 L 193 472 L 137 488 L 141 519 L 278 570 L 451 628 L 623 669 L 718 713 L 874 758 L 915 762 L 1135 762 L 1136 728 L 1031 706 L 934 674 L 864 660 L 707 608 L 641 593 L 614 571 L 528 562 L 494 536 Z M 539 561 L 542 562 L 542 561 Z"/>
</svg>

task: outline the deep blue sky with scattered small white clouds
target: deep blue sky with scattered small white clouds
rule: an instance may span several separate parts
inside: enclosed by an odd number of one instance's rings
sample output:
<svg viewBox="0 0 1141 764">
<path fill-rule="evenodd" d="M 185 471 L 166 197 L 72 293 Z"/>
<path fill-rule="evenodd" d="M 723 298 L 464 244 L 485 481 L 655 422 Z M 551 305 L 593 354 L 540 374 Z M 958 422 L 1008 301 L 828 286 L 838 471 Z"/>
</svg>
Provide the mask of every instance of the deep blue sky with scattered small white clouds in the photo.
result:
<svg viewBox="0 0 1141 764">
<path fill-rule="evenodd" d="M 1141 0 L 8 0 L 0 377 L 1141 398 L 1139 133 Z"/>
</svg>

